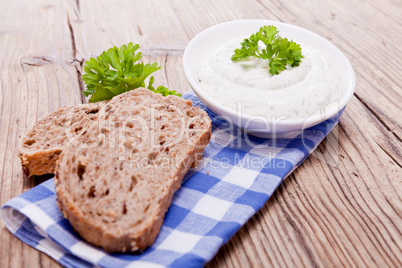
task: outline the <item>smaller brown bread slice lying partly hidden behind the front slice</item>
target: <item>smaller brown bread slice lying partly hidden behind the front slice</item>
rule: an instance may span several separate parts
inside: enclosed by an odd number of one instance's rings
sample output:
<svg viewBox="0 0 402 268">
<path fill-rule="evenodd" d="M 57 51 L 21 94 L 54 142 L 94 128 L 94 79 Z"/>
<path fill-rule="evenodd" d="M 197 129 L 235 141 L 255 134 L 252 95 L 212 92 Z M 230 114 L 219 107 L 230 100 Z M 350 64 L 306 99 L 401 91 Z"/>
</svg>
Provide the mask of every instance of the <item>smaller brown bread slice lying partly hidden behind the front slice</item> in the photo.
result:
<svg viewBox="0 0 402 268">
<path fill-rule="evenodd" d="M 62 150 L 98 118 L 104 103 L 65 106 L 42 117 L 25 134 L 19 150 L 27 176 L 54 173 Z"/>
</svg>

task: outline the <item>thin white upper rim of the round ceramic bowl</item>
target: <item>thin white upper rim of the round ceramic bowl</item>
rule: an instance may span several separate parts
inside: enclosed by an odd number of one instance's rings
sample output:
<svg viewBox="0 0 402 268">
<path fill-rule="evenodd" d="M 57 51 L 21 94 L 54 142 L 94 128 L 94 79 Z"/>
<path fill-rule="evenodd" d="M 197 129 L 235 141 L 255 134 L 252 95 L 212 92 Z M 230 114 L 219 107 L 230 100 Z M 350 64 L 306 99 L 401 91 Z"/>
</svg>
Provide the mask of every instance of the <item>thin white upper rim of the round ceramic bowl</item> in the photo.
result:
<svg viewBox="0 0 402 268">
<path fill-rule="evenodd" d="M 346 58 L 346 56 L 336 47 L 334 46 L 331 42 L 329 42 L 327 39 L 309 31 L 306 29 L 303 29 L 301 27 L 298 26 L 294 26 L 291 24 L 287 24 L 287 23 L 283 23 L 283 22 L 277 22 L 277 21 L 271 21 L 271 20 L 235 20 L 235 21 L 228 21 L 228 22 L 224 22 L 221 24 L 217 24 L 215 26 L 212 26 L 210 28 L 205 29 L 204 31 L 200 32 L 199 34 L 197 34 L 187 45 L 185 51 L 184 51 L 184 55 L 183 55 L 183 66 L 184 66 L 184 72 L 185 75 L 190 83 L 190 85 L 192 86 L 192 88 L 194 89 L 195 93 L 202 99 L 208 100 L 208 102 L 210 102 L 212 105 L 218 106 L 221 110 L 225 111 L 226 113 L 228 113 L 231 116 L 238 116 L 237 111 L 228 108 L 226 106 L 223 106 L 221 103 L 219 103 L 217 100 L 215 100 L 214 98 L 211 98 L 207 93 L 205 93 L 201 87 L 197 84 L 196 81 L 196 77 L 194 77 L 191 72 L 190 72 L 190 65 L 191 65 L 191 52 L 196 48 L 197 44 L 204 38 L 208 37 L 208 35 L 211 34 L 211 32 L 213 31 L 219 31 L 219 30 L 225 30 L 226 27 L 228 26 L 241 26 L 245 23 L 256 23 L 256 24 L 260 24 L 260 26 L 264 26 L 264 25 L 275 25 L 277 27 L 282 26 L 282 27 L 288 27 L 289 29 L 293 29 L 296 31 L 300 31 L 300 32 L 304 32 L 305 34 L 309 34 L 312 37 L 316 38 L 316 39 L 321 39 L 322 42 L 325 42 L 326 46 L 329 46 L 332 50 L 335 50 L 338 52 L 339 56 L 342 57 L 342 61 L 345 64 L 345 72 L 348 73 L 348 79 L 347 79 L 347 89 L 345 90 L 345 94 L 343 95 L 343 97 L 339 100 L 339 105 L 334 105 L 332 107 L 329 107 L 326 111 L 325 111 L 325 118 L 323 118 L 323 114 L 317 114 L 317 115 L 313 115 L 307 118 L 297 118 L 297 119 L 284 119 L 280 121 L 281 125 L 299 125 L 299 124 L 303 124 L 303 125 L 309 125 L 310 123 L 313 122 L 322 122 L 334 115 L 336 115 L 341 109 L 343 109 L 346 104 L 348 103 L 348 101 L 350 100 L 350 98 L 352 97 L 353 93 L 354 93 L 354 88 L 355 88 L 355 74 L 353 71 L 353 67 L 350 64 L 350 62 L 348 61 L 348 59 Z M 258 30 L 258 29 L 257 29 Z M 250 33 L 251 34 L 251 33 Z M 238 36 L 241 37 L 241 36 Z M 229 42 L 230 40 L 228 40 Z M 297 40 L 294 40 L 297 42 Z M 242 120 L 248 120 L 251 115 L 247 115 L 247 114 L 242 114 L 241 115 Z M 266 119 L 267 122 L 270 122 L 269 119 Z"/>
</svg>

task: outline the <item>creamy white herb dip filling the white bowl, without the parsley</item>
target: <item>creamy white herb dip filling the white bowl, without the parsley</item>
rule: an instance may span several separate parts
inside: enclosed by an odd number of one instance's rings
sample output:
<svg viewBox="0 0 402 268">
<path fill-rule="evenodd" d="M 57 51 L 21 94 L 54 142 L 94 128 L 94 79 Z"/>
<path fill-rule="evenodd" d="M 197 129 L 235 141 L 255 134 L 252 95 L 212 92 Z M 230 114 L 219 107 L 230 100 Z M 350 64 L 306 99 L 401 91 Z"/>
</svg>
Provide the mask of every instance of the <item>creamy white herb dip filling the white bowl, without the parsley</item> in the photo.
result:
<svg viewBox="0 0 402 268">
<path fill-rule="evenodd" d="M 265 118 L 306 118 L 327 105 L 337 105 L 344 81 L 335 64 L 321 52 L 302 47 L 304 58 L 297 67 L 272 76 L 268 61 L 250 57 L 232 62 L 243 39 L 213 51 L 200 66 L 202 89 L 221 104 L 247 115 Z"/>
</svg>

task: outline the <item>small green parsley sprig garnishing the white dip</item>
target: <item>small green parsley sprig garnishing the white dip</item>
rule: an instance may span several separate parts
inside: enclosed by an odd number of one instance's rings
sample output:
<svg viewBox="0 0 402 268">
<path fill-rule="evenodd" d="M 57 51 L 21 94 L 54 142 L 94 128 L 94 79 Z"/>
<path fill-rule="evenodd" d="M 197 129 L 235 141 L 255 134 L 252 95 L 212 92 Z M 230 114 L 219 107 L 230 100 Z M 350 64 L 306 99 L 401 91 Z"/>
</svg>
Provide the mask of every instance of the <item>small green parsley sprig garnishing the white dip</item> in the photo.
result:
<svg viewBox="0 0 402 268">
<path fill-rule="evenodd" d="M 266 48 L 258 50 L 258 43 L 262 42 Z M 275 26 L 263 26 L 260 30 L 244 39 L 241 48 L 237 48 L 232 61 L 240 61 L 247 57 L 257 57 L 269 61 L 269 73 L 272 75 L 286 70 L 287 66 L 299 66 L 303 58 L 300 45 L 282 38 Z"/>
</svg>

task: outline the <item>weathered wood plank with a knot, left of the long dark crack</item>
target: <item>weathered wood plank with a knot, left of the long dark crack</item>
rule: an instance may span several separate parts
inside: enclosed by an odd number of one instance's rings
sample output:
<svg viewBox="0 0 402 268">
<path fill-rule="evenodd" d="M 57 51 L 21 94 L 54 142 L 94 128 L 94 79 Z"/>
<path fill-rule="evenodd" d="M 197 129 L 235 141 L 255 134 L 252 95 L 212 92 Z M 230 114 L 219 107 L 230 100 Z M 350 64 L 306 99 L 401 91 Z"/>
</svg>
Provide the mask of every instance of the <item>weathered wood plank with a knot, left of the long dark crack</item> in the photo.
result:
<svg viewBox="0 0 402 268">
<path fill-rule="evenodd" d="M 0 3 L 1 205 L 34 186 L 21 172 L 22 135 L 41 116 L 61 105 L 78 103 L 76 97 L 80 100 L 74 91 L 75 71 L 63 58 L 63 51 L 71 50 L 71 42 L 65 39 L 65 12 L 62 2 Z M 53 260 L 41 262 L 45 255 L 11 235 L 3 221 L 0 240 L 0 267 L 59 266 Z"/>
</svg>

